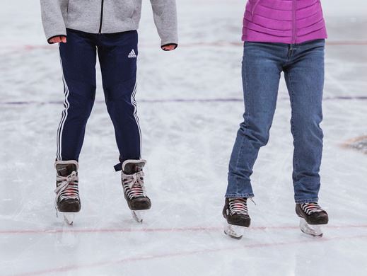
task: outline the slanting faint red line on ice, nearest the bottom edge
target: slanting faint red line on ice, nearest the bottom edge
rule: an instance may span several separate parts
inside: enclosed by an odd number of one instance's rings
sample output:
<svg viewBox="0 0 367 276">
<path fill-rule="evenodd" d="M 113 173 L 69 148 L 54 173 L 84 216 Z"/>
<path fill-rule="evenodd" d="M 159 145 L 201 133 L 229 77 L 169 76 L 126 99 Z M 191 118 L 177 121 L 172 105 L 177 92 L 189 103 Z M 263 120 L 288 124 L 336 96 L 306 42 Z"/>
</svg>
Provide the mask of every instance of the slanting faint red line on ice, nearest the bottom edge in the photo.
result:
<svg viewBox="0 0 367 276">
<path fill-rule="evenodd" d="M 229 238 L 229 237 L 223 237 Z M 159 260 L 164 258 L 176 258 L 176 257 L 184 257 L 196 254 L 204 254 L 204 253 L 219 253 L 223 251 L 233 251 L 233 250 L 241 250 L 244 248 L 269 248 L 274 246 L 292 246 L 296 244 L 307 244 L 307 243 L 325 243 L 330 241 L 344 241 L 350 240 L 351 238 L 367 238 L 367 235 L 359 235 L 359 236 L 334 236 L 330 238 L 312 238 L 312 237 L 305 237 L 303 241 L 283 241 L 283 242 L 276 242 L 276 243 L 252 243 L 252 244 L 245 244 L 242 246 L 227 246 L 223 248 L 207 248 L 202 250 L 194 250 L 194 251 L 186 251 L 186 252 L 174 252 L 174 253 L 161 253 L 156 255 L 141 255 L 136 257 L 130 258 L 122 258 L 119 260 L 105 260 L 93 263 L 84 263 L 81 265 L 64 265 L 59 268 L 53 268 L 48 270 L 37 270 L 33 272 L 23 272 L 18 274 L 11 274 L 12 276 L 37 276 L 37 275 L 47 275 L 49 273 L 60 273 L 60 272 L 70 272 L 73 270 L 82 270 L 82 269 L 91 269 L 91 268 L 100 268 L 107 265 L 120 265 L 124 263 L 132 263 L 132 262 L 139 262 L 144 260 Z M 240 243 L 241 241 L 238 241 Z M 10 276 L 10 275 L 9 275 Z"/>
</svg>

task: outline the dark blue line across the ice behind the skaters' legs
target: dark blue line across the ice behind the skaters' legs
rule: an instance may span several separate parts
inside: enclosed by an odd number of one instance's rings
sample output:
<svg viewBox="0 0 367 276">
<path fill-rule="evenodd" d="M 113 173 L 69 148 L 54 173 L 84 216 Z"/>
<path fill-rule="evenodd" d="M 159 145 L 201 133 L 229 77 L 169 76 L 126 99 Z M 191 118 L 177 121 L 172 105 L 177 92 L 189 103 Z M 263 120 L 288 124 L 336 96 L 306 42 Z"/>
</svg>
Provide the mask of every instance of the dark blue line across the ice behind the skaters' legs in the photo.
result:
<svg viewBox="0 0 367 276">
<path fill-rule="evenodd" d="M 278 100 L 289 100 L 289 98 L 281 97 Z M 367 100 L 367 96 L 337 96 L 325 97 L 323 100 Z M 139 103 L 226 103 L 226 102 L 243 102 L 243 98 L 172 98 L 172 99 L 141 99 Z M 0 105 L 61 105 L 62 100 L 20 100 L 20 101 L 0 101 Z M 95 103 L 105 103 L 105 100 L 95 100 Z"/>
</svg>

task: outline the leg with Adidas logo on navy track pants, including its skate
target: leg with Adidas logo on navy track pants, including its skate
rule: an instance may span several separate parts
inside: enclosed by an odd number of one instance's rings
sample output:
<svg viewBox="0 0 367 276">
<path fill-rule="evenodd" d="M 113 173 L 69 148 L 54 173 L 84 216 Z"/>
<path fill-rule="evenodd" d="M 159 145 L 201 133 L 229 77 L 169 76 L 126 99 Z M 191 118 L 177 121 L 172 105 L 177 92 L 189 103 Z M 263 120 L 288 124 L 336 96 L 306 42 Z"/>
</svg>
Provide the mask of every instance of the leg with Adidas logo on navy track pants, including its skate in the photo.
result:
<svg viewBox="0 0 367 276">
<path fill-rule="evenodd" d="M 143 222 L 141 212 L 151 208 L 146 195 L 143 168 L 140 159 L 141 133 L 136 115 L 136 56 L 138 36 L 136 30 L 102 35 L 98 57 L 102 69 L 103 90 L 107 110 L 115 127 L 120 151 L 122 188 L 127 205 L 136 222 Z"/>
</svg>

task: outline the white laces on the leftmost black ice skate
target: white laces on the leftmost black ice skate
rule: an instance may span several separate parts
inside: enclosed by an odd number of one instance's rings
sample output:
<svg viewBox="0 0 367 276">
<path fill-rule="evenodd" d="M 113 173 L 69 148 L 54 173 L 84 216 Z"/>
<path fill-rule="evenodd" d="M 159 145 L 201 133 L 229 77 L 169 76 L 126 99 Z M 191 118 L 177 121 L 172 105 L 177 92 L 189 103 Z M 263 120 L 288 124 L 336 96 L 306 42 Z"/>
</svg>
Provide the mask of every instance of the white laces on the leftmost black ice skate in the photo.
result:
<svg viewBox="0 0 367 276">
<path fill-rule="evenodd" d="M 57 188 L 54 190 L 56 193 L 55 206 L 57 201 L 79 199 L 78 190 L 78 173 L 73 171 L 69 176 L 56 176 Z"/>
</svg>

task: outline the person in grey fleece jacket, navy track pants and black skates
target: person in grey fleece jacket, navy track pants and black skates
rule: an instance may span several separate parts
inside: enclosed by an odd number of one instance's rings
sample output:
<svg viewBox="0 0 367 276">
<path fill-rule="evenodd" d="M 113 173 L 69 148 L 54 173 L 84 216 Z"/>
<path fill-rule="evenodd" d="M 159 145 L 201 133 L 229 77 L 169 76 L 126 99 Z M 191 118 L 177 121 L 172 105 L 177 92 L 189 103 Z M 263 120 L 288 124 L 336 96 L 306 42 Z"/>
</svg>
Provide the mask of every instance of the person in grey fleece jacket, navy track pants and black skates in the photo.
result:
<svg viewBox="0 0 367 276">
<path fill-rule="evenodd" d="M 124 197 L 134 219 L 151 208 L 144 188 L 141 130 L 136 113 L 136 58 L 141 0 L 40 0 L 47 42 L 59 43 L 64 110 L 57 130 L 55 207 L 72 224 L 81 209 L 78 157 L 95 99 L 98 54 L 107 111 L 115 127 Z M 161 48 L 177 47 L 175 0 L 151 0 Z"/>
</svg>

